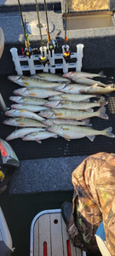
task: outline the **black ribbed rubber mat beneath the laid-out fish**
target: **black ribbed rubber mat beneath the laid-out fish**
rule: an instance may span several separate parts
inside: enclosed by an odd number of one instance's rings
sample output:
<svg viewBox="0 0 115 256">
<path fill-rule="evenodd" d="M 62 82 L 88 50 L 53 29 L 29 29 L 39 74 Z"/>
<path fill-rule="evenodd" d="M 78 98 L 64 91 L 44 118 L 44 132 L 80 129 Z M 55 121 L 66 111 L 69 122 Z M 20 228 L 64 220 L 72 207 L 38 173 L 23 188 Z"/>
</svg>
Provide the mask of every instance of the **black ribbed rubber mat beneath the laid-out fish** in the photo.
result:
<svg viewBox="0 0 115 256">
<path fill-rule="evenodd" d="M 90 73 L 99 73 L 101 70 L 106 74 L 106 79 L 100 80 L 105 84 L 113 84 L 115 81 L 115 70 L 112 68 L 87 70 Z M 85 70 L 86 71 L 86 70 Z M 7 76 L 0 76 L 0 91 L 3 99 L 9 108 L 13 102 L 9 101 L 9 96 L 13 96 L 13 90 L 18 89 L 20 85 L 10 82 Z M 115 93 L 111 96 L 105 96 L 108 104 L 106 105 L 106 114 L 109 119 L 101 119 L 94 117 L 90 119 L 90 123 L 95 130 L 103 130 L 112 127 L 112 133 L 115 134 Z M 97 108 L 98 109 L 98 108 Z M 95 108 L 95 110 L 97 110 Z M 15 130 L 14 126 L 3 125 L 3 120 L 8 117 L 0 113 L 0 137 L 5 139 L 11 132 Z M 90 142 L 87 137 L 82 139 L 74 139 L 70 142 L 63 137 L 49 138 L 42 141 L 42 144 L 36 142 L 24 142 L 20 138 L 9 141 L 19 160 L 52 158 L 61 156 L 89 155 L 97 152 L 105 151 L 115 153 L 115 138 L 96 136 L 94 142 Z"/>
</svg>

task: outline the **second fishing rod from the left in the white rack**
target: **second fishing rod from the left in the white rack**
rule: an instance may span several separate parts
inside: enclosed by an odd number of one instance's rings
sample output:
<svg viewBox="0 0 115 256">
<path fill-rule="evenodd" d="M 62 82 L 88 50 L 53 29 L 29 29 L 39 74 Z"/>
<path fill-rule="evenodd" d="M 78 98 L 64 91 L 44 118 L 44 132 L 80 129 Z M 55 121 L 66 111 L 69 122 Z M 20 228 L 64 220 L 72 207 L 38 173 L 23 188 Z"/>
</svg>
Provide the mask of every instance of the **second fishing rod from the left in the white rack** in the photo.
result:
<svg viewBox="0 0 115 256">
<path fill-rule="evenodd" d="M 42 36 L 42 31 L 41 31 L 41 24 L 40 24 L 40 19 L 39 19 L 39 9 L 38 9 L 38 4 L 37 4 L 37 0 L 35 0 L 36 2 L 36 9 L 37 9 L 37 20 L 38 20 L 38 26 L 39 26 L 39 32 L 40 32 L 40 38 L 41 38 L 41 44 L 42 44 L 42 54 L 39 58 L 39 61 L 45 65 L 49 62 L 48 60 L 48 56 L 45 55 L 45 52 L 43 50 L 43 36 Z"/>
</svg>

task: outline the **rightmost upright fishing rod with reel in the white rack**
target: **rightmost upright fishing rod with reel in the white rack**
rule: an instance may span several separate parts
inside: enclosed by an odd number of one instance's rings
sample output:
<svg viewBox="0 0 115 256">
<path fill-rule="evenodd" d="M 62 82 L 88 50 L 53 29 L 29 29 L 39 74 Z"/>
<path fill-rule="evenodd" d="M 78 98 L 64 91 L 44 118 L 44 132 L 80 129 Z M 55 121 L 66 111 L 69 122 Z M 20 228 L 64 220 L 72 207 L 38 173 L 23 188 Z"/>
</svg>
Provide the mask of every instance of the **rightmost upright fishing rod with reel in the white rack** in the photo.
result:
<svg viewBox="0 0 115 256">
<path fill-rule="evenodd" d="M 63 57 L 67 63 L 68 61 L 70 61 L 71 55 L 70 55 L 69 46 L 66 45 L 66 42 L 68 40 L 68 38 L 66 38 L 66 13 L 67 13 L 67 0 L 66 0 L 66 6 L 65 6 L 65 47 L 64 47 L 64 54 L 63 54 Z"/>
</svg>

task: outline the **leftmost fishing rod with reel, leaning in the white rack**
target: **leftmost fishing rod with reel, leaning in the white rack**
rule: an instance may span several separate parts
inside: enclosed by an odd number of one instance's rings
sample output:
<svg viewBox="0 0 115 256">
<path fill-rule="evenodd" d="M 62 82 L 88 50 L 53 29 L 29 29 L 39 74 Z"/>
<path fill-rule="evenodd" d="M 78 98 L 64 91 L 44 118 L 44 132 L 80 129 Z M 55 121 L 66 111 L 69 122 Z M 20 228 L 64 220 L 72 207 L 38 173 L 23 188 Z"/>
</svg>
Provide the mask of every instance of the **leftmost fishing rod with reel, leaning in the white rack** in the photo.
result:
<svg viewBox="0 0 115 256">
<path fill-rule="evenodd" d="M 30 47 L 29 38 L 28 38 L 28 35 L 26 34 L 24 20 L 23 20 L 21 8 L 20 8 L 20 0 L 18 0 L 18 4 L 19 4 L 20 18 L 21 18 L 21 22 L 22 22 L 23 32 L 24 32 L 24 36 L 25 36 L 25 44 L 26 44 L 26 49 L 25 50 L 21 49 L 21 50 L 22 50 L 22 53 L 24 56 L 26 55 L 30 58 L 32 55 L 32 48 Z"/>
</svg>

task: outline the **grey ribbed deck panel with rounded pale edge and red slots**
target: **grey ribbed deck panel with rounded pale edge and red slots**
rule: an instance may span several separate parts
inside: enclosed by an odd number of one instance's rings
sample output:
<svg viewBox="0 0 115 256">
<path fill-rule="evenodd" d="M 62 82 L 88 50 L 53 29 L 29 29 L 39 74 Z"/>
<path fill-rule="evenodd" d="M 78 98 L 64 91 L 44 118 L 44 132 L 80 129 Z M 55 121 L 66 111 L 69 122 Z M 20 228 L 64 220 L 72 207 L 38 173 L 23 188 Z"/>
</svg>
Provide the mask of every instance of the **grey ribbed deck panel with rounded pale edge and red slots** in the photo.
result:
<svg viewBox="0 0 115 256">
<path fill-rule="evenodd" d="M 66 235 L 61 210 L 39 212 L 32 220 L 30 256 L 86 256 Z"/>
</svg>

